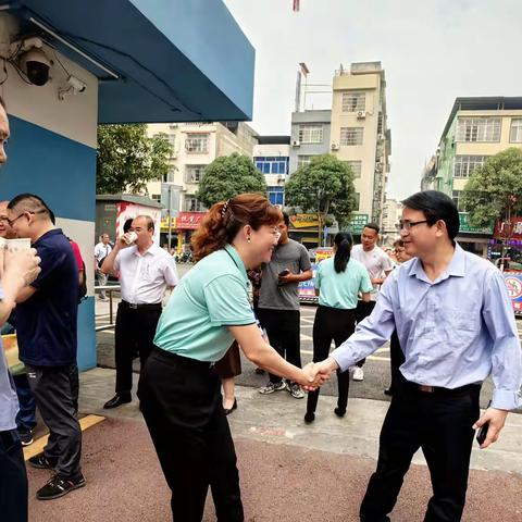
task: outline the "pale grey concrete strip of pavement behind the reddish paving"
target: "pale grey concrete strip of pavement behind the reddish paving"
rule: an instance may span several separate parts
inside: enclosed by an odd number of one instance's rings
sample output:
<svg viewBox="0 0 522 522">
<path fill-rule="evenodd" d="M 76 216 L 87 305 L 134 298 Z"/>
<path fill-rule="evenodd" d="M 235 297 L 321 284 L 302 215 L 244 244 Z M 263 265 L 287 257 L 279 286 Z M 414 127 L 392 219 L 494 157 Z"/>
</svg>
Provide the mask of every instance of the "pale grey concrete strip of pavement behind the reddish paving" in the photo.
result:
<svg viewBox="0 0 522 522">
<path fill-rule="evenodd" d="M 113 370 L 101 368 L 80 374 L 80 411 L 141 420 L 136 399 L 114 410 L 103 410 L 103 402 L 114 395 L 114 378 Z M 134 389 L 137 378 L 134 374 Z M 236 387 L 236 396 L 238 408 L 228 417 L 236 438 L 376 459 L 388 402 L 350 398 L 346 417 L 338 419 L 334 414 L 336 398 L 322 395 L 315 422 L 307 425 L 303 422 L 306 399 L 296 400 L 286 391 L 262 396 L 256 388 L 243 386 Z M 425 464 L 420 451 L 413 462 Z M 474 444 L 471 467 L 522 476 L 522 415 L 508 415 L 500 439 L 490 448 L 481 450 Z"/>
</svg>

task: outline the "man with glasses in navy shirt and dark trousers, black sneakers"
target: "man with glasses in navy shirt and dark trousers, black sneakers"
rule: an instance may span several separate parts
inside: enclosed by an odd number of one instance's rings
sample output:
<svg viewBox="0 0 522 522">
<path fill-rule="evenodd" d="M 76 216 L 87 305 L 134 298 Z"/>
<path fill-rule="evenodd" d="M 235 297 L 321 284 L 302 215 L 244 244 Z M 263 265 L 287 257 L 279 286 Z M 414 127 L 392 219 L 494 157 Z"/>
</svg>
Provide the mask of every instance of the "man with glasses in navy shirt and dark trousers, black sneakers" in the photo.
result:
<svg viewBox="0 0 522 522">
<path fill-rule="evenodd" d="M 20 359 L 49 440 L 42 453 L 29 459 L 35 468 L 53 470 L 36 497 L 49 500 L 85 486 L 82 474 L 82 430 L 78 412 L 77 310 L 78 266 L 73 248 L 52 212 L 33 194 L 21 194 L 8 206 L 17 237 L 30 239 L 41 258 L 41 273 L 16 302 Z"/>
</svg>

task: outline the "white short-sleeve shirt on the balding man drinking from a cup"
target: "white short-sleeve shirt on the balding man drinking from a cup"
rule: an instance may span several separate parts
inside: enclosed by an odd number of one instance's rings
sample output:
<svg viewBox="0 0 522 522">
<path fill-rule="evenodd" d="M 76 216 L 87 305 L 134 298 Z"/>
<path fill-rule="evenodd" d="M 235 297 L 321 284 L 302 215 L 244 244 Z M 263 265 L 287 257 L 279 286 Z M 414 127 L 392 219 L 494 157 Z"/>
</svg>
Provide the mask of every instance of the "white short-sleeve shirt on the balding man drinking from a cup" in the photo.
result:
<svg viewBox="0 0 522 522">
<path fill-rule="evenodd" d="M 174 259 L 156 244 L 142 256 L 136 245 L 120 250 L 114 270 L 120 272 L 122 299 L 133 304 L 159 303 L 166 287 L 178 283 Z"/>
</svg>

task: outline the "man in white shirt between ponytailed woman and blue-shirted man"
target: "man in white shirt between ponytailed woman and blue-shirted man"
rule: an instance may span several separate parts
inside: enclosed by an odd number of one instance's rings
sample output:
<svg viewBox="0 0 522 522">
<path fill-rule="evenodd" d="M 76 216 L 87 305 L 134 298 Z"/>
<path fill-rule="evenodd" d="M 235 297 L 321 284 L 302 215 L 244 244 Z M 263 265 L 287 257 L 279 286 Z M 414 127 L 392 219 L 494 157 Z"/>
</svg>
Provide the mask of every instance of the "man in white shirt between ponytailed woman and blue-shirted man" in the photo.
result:
<svg viewBox="0 0 522 522">
<path fill-rule="evenodd" d="M 370 281 L 373 285 L 371 300 L 369 302 L 359 300 L 357 303 L 357 323 L 360 323 L 364 318 L 372 313 L 375 308 L 375 301 L 377 300 L 378 288 L 384 283 L 387 275 L 394 270 L 394 263 L 391 260 L 382 248 L 377 247 L 378 232 L 378 225 L 375 223 L 368 223 L 361 234 L 361 245 L 356 245 L 351 249 L 351 257 L 366 268 Z M 353 381 L 364 380 L 362 366 L 365 361 L 365 359 L 362 359 L 357 363 L 353 369 Z"/>
</svg>

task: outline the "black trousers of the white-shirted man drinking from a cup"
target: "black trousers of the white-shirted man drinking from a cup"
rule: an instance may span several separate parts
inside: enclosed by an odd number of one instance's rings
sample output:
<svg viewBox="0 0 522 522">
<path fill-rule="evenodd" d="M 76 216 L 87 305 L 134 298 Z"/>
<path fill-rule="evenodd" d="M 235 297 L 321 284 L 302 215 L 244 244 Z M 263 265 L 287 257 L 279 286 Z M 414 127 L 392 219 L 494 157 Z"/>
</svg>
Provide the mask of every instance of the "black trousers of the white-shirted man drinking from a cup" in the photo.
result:
<svg viewBox="0 0 522 522">
<path fill-rule="evenodd" d="M 157 308 L 128 308 L 124 302 L 117 307 L 114 335 L 116 362 L 116 394 L 130 395 L 133 389 L 133 359 L 139 353 L 139 362 L 145 361 L 154 347 L 156 327 L 161 315 L 161 304 Z"/>
</svg>

